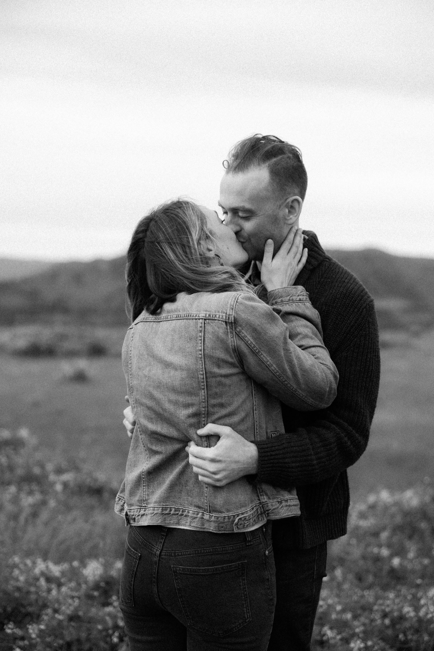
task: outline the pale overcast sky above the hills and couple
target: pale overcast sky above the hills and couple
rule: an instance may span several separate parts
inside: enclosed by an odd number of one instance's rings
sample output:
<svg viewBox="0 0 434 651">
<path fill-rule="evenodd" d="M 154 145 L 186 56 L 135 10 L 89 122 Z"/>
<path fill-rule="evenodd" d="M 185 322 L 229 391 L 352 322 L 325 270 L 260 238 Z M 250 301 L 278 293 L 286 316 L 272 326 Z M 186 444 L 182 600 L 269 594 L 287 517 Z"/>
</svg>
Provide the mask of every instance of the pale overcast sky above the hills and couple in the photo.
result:
<svg viewBox="0 0 434 651">
<path fill-rule="evenodd" d="M 434 257 L 433 33 L 432 0 L 1 0 L 0 255 L 119 255 L 260 132 L 323 245 Z"/>
</svg>

